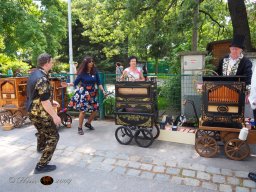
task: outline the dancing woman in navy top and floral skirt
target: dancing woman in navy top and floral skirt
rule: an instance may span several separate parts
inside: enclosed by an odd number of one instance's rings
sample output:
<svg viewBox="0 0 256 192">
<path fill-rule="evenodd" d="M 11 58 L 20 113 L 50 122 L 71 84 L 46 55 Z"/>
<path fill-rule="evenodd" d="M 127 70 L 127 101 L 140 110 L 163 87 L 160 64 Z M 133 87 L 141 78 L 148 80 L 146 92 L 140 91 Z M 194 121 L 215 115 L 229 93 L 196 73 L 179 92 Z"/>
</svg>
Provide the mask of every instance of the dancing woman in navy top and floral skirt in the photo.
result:
<svg viewBox="0 0 256 192">
<path fill-rule="evenodd" d="M 84 58 L 81 66 L 78 69 L 77 78 L 75 79 L 74 83 L 68 83 L 67 85 L 76 87 L 79 84 L 80 86 L 76 89 L 74 96 L 68 104 L 68 107 L 80 111 L 78 134 L 83 135 L 84 131 L 82 127 L 85 113 L 89 112 L 91 114 L 84 126 L 90 130 L 93 130 L 94 127 L 91 125 L 91 122 L 99 110 L 99 103 L 97 101 L 97 89 L 95 84 L 97 84 L 103 94 L 106 95 L 106 92 L 104 91 L 100 81 L 99 73 L 96 70 L 94 61 L 91 57 Z"/>
</svg>

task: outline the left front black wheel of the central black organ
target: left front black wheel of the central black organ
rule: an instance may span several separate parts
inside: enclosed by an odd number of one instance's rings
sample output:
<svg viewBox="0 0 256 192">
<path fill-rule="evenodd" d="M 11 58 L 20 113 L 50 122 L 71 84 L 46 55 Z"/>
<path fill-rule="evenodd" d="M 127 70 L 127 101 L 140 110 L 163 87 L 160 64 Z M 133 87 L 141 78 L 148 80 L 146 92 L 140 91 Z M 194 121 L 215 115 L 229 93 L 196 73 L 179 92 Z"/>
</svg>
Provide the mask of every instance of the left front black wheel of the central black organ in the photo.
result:
<svg viewBox="0 0 256 192">
<path fill-rule="evenodd" d="M 133 134 L 130 128 L 121 126 L 116 129 L 115 137 L 118 143 L 122 145 L 128 145 L 133 139 Z"/>
</svg>

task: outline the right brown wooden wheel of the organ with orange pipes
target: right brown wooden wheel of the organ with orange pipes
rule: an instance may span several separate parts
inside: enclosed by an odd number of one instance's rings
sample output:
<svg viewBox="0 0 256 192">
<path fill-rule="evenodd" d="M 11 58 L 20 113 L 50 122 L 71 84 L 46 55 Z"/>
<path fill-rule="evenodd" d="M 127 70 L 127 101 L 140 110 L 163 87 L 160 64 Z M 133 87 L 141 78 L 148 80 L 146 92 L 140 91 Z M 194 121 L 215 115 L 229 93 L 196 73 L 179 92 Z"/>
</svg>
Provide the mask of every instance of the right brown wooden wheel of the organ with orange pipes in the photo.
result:
<svg viewBox="0 0 256 192">
<path fill-rule="evenodd" d="M 243 160 L 250 155 L 250 147 L 246 141 L 231 139 L 225 143 L 225 155 L 232 160 Z"/>
</svg>

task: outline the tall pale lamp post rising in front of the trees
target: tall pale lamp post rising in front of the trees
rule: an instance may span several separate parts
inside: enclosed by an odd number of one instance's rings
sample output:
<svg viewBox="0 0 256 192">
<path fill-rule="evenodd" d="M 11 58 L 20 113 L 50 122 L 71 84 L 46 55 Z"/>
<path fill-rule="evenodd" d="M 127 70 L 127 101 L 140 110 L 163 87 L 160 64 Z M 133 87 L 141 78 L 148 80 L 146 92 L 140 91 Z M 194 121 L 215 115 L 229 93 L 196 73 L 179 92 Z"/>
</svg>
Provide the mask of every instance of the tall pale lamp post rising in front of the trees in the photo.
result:
<svg viewBox="0 0 256 192">
<path fill-rule="evenodd" d="M 72 48 L 72 20 L 71 20 L 71 0 L 68 0 L 68 37 L 69 37 L 69 73 L 70 82 L 74 82 L 73 70 L 73 48 Z"/>
</svg>

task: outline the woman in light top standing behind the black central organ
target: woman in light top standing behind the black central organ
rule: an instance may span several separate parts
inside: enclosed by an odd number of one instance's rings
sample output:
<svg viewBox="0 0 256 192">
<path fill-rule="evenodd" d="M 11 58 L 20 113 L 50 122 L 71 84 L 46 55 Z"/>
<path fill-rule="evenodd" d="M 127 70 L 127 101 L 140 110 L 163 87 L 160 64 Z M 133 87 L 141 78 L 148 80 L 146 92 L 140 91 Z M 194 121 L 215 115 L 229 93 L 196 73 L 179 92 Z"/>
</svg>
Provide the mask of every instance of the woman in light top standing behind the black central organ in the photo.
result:
<svg viewBox="0 0 256 192">
<path fill-rule="evenodd" d="M 123 75 L 121 76 L 121 80 L 125 81 L 144 81 L 145 78 L 140 70 L 137 69 L 137 57 L 131 56 L 129 57 L 130 67 L 126 68 L 123 71 Z"/>
</svg>

